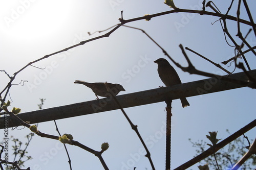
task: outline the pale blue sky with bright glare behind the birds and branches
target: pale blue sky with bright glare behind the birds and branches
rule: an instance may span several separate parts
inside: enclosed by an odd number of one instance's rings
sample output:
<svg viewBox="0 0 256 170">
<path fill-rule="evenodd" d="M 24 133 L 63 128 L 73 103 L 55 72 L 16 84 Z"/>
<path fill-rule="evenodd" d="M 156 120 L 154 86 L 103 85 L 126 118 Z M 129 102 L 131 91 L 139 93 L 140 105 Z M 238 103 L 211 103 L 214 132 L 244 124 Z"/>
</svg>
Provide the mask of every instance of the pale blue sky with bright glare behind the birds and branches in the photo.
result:
<svg viewBox="0 0 256 170">
<path fill-rule="evenodd" d="M 214 2 L 222 13 L 226 13 L 230 1 Z M 248 1 L 255 7 L 255 1 Z M 201 1 L 175 1 L 178 8 L 201 8 Z M 253 8 L 251 8 L 253 9 Z M 31 61 L 62 50 L 68 46 L 87 40 L 106 32 L 88 32 L 105 30 L 119 23 L 123 10 L 124 19 L 141 17 L 171 10 L 163 1 L 2 1 L 0 5 L 0 69 L 10 76 Z M 211 9 L 206 8 L 211 11 Z M 236 16 L 237 2 L 229 14 Z M 251 10 L 255 16 L 255 10 Z M 241 8 L 241 18 L 249 20 Z M 219 18 L 214 16 L 187 13 L 173 13 L 127 23 L 127 26 L 143 29 L 178 63 L 186 66 L 179 44 L 204 55 L 216 63 L 234 56 L 234 48 L 225 41 Z M 217 22 L 215 22 L 217 21 Z M 212 23 L 214 25 L 212 25 Z M 237 23 L 227 21 L 230 34 L 237 34 Z M 243 35 L 249 29 L 241 26 Z M 251 32 L 248 41 L 256 45 Z M 231 41 L 228 40 L 230 44 Z M 241 41 L 238 40 L 239 43 Z M 246 49 L 246 48 L 245 48 Z M 225 72 L 187 51 L 193 64 L 199 70 L 225 75 Z M 251 69 L 255 69 L 255 56 L 246 54 Z M 108 38 L 86 43 L 65 53 L 51 56 L 34 63 L 20 72 L 13 84 L 21 80 L 27 83 L 13 85 L 7 100 L 12 107 L 19 107 L 22 113 L 38 110 L 39 98 L 46 99 L 43 108 L 69 105 L 95 100 L 95 95 L 86 86 L 77 85 L 75 80 L 87 82 L 120 83 L 126 91 L 119 94 L 138 92 L 163 86 L 157 73 L 158 58 L 166 58 L 160 48 L 141 31 L 121 27 Z M 168 60 L 170 64 L 173 64 Z M 243 62 L 243 60 L 240 60 Z M 142 63 L 142 64 L 140 64 Z M 230 67 L 222 65 L 233 71 Z M 206 79 L 203 76 L 189 75 L 178 67 L 182 82 Z M 132 74 L 130 74 L 132 70 Z M 240 72 L 236 69 L 234 72 Z M 2 89 L 9 82 L 8 77 L 0 73 Z M 209 131 L 218 131 L 219 138 L 238 131 L 255 119 L 255 90 L 245 87 L 187 98 L 189 107 L 182 108 L 180 100 L 173 101 L 172 117 L 172 169 L 195 156 L 193 141 L 206 140 Z M 148 145 L 156 169 L 165 167 L 165 103 L 150 104 L 124 109 Z M 120 110 L 57 120 L 60 133 L 70 133 L 74 140 L 99 151 L 103 142 L 110 144 L 103 158 L 110 169 L 151 169 L 148 159 L 143 156 L 142 144 L 131 129 Z M 53 122 L 39 124 L 43 133 L 57 135 Z M 21 128 L 20 128 L 21 129 Z M 9 130 L 9 135 L 26 142 L 29 129 Z M 255 138 L 255 129 L 246 134 Z M 10 142 L 10 145 L 12 143 Z M 73 169 L 103 169 L 97 157 L 78 147 L 67 145 Z M 58 141 L 34 136 L 28 148 L 33 157 L 26 162 L 31 169 L 68 169 L 68 159 Z M 199 164 L 197 164 L 199 165 Z M 191 167 L 197 169 L 196 166 Z"/>
</svg>

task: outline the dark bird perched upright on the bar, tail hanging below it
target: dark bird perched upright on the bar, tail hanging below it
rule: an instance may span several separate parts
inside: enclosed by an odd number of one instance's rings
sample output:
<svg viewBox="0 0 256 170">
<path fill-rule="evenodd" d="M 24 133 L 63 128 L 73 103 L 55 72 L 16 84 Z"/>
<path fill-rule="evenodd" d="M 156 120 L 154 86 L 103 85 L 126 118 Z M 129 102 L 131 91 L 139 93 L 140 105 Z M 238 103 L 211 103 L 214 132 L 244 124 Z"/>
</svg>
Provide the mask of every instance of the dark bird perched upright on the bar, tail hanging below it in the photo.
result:
<svg viewBox="0 0 256 170">
<path fill-rule="evenodd" d="M 175 84 L 181 84 L 181 80 L 175 71 L 174 67 L 170 65 L 170 63 L 165 60 L 164 58 L 159 58 L 154 63 L 158 64 L 158 75 L 162 82 L 165 84 L 165 86 L 172 86 Z M 180 99 L 182 107 L 189 106 L 189 103 L 187 102 L 186 98 Z"/>
</svg>

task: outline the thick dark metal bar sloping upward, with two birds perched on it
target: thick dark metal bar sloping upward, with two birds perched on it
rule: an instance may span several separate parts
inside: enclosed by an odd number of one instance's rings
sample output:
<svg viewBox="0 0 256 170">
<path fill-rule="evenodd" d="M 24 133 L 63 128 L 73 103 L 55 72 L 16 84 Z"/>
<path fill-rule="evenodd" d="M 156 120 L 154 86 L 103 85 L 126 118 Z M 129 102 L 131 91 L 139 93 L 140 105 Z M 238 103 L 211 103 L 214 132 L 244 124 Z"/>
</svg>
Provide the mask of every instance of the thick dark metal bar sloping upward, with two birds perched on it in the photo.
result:
<svg viewBox="0 0 256 170">
<path fill-rule="evenodd" d="M 256 79 L 256 70 L 248 71 L 251 77 Z M 228 77 L 238 80 L 247 80 L 244 72 L 229 75 Z M 223 81 L 218 78 L 204 79 L 189 83 L 183 83 L 170 87 L 162 87 L 151 90 L 139 91 L 116 96 L 123 108 L 147 105 L 152 103 L 175 100 L 189 96 L 213 93 L 218 91 L 241 88 L 244 85 Z M 66 106 L 59 106 L 49 109 L 20 113 L 17 116 L 30 124 L 47 122 L 68 117 L 75 117 L 98 112 L 105 112 L 119 109 L 113 99 L 99 99 L 88 102 L 76 103 Z M 13 118 L 8 118 L 8 127 L 15 127 L 19 124 Z M 0 129 L 4 128 L 4 116 L 0 117 Z"/>
</svg>

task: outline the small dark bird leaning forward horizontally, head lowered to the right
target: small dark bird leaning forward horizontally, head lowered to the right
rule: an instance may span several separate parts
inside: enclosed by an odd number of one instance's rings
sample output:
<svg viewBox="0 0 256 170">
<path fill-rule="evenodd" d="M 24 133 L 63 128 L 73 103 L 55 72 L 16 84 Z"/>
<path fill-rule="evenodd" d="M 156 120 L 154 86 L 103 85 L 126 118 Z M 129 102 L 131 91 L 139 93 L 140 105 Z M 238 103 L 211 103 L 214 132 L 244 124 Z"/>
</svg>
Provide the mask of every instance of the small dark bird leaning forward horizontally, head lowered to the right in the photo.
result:
<svg viewBox="0 0 256 170">
<path fill-rule="evenodd" d="M 74 83 L 77 84 L 83 84 L 86 85 L 87 87 L 91 88 L 93 92 L 95 93 L 97 99 L 98 95 L 102 97 L 108 97 L 111 96 L 110 92 L 106 89 L 105 83 L 88 83 L 80 80 L 76 80 Z M 115 96 L 120 92 L 120 91 L 125 91 L 123 86 L 120 84 L 112 84 L 112 83 L 106 83 L 108 87 L 110 88 L 112 94 Z"/>
</svg>

